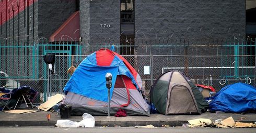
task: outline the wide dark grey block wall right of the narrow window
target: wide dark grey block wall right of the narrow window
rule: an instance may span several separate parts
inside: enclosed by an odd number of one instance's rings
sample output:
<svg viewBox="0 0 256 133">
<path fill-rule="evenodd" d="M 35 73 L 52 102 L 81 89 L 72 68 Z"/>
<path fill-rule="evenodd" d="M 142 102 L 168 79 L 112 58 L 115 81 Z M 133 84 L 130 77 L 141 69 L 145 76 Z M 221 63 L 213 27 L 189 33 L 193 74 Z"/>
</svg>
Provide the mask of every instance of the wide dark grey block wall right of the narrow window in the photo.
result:
<svg viewBox="0 0 256 133">
<path fill-rule="evenodd" d="M 241 0 L 136 0 L 135 38 L 245 37 Z"/>
</svg>

